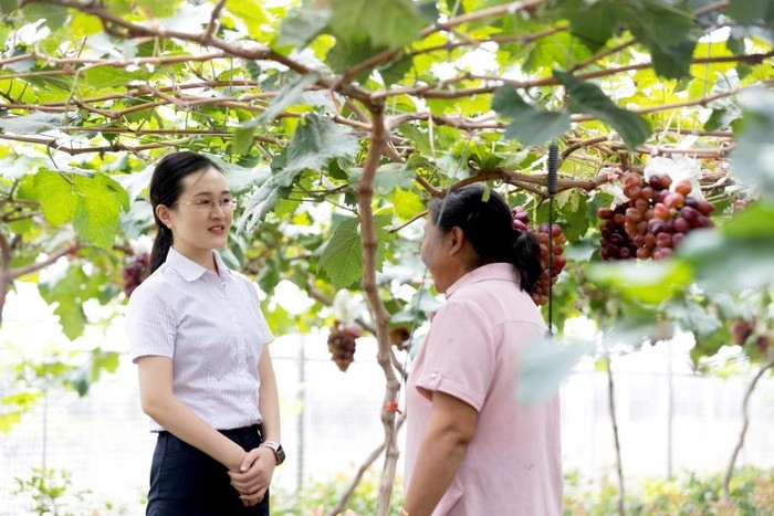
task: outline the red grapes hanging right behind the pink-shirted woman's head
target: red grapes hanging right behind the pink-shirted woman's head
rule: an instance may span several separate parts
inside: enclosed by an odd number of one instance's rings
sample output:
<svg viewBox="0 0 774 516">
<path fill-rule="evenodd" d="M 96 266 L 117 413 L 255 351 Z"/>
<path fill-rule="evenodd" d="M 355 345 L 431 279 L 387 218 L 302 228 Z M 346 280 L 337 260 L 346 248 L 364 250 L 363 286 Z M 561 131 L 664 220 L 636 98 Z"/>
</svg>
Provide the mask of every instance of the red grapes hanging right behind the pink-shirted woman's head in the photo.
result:
<svg viewBox="0 0 774 516">
<path fill-rule="evenodd" d="M 517 206 L 511 210 L 511 213 L 513 213 L 513 227 L 516 230 L 535 233 L 530 228 L 530 214 L 524 208 Z M 567 264 L 567 259 L 562 255 L 567 238 L 564 235 L 559 224 L 548 227 L 548 224 L 543 223 L 537 228 L 536 233 L 537 241 L 541 244 L 541 265 L 543 265 L 543 271 L 541 272 L 540 281 L 535 284 L 530 295 L 536 305 L 545 305 L 548 303 L 551 286 L 556 283 L 559 273 Z"/>
</svg>

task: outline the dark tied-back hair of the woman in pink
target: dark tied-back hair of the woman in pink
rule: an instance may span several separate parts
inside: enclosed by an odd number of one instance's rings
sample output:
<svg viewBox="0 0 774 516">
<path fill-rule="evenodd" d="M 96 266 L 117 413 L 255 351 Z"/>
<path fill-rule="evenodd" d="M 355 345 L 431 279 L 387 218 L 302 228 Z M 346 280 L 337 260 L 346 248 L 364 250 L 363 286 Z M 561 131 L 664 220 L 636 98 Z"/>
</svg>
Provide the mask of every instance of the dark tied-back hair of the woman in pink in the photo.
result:
<svg viewBox="0 0 774 516">
<path fill-rule="evenodd" d="M 478 254 L 473 268 L 506 262 L 516 267 L 522 291 L 532 292 L 540 280 L 541 246 L 537 238 L 513 228 L 513 217 L 505 200 L 494 190 L 471 185 L 430 202 L 430 221 L 443 233 L 458 227 Z"/>
</svg>

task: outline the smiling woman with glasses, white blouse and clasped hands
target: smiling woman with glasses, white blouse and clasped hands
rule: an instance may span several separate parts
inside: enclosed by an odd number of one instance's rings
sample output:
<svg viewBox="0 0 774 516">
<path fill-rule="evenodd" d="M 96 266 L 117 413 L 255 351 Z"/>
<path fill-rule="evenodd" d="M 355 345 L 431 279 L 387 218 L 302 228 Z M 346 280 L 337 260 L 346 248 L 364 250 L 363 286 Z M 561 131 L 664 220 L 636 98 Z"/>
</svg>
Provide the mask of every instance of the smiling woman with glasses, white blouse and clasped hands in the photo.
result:
<svg viewBox="0 0 774 516">
<path fill-rule="evenodd" d="M 236 201 L 222 171 L 189 151 L 158 162 L 149 197 L 158 233 L 126 323 L 158 432 L 146 514 L 268 515 L 284 460 L 272 334 L 253 284 L 216 252 Z"/>
</svg>

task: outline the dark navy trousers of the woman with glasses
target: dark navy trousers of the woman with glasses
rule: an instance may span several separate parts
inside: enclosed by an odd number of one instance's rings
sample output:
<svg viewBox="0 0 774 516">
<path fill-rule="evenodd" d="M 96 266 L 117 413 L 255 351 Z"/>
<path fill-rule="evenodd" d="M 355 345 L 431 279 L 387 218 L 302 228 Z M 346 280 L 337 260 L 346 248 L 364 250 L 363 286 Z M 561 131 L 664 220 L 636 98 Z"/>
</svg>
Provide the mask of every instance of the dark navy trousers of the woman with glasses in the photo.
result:
<svg viewBox="0 0 774 516">
<path fill-rule="evenodd" d="M 220 433 L 244 451 L 263 441 L 259 427 L 221 430 Z M 252 507 L 242 505 L 221 463 L 177 439 L 159 432 L 150 466 L 147 516 L 239 516 L 269 515 L 269 491 Z"/>
</svg>

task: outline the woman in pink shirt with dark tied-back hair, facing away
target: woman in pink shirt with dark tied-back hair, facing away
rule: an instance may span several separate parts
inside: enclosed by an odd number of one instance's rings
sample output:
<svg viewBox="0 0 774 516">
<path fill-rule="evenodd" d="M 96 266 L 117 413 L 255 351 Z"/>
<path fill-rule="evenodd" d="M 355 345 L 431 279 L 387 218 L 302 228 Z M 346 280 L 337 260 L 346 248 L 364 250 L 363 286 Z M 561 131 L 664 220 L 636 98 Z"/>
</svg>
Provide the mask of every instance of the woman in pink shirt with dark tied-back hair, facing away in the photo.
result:
<svg viewBox="0 0 774 516">
<path fill-rule="evenodd" d="M 447 301 L 408 378 L 402 515 L 561 515 L 558 398 L 516 397 L 520 354 L 547 330 L 540 244 L 477 185 L 430 204 L 421 259 Z"/>
</svg>

